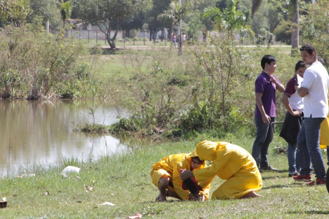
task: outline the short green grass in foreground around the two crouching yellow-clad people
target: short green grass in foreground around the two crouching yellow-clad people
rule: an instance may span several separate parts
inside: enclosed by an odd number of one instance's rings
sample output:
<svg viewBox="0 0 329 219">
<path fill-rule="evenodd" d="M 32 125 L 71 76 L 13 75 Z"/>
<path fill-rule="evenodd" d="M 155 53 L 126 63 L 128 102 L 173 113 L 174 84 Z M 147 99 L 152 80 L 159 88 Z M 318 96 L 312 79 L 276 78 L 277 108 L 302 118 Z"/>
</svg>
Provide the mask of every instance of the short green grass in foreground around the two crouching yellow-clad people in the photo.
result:
<svg viewBox="0 0 329 219">
<path fill-rule="evenodd" d="M 64 163 L 50 170 L 35 168 L 35 176 L 0 179 L 0 197 L 8 207 L 0 209 L 2 218 L 126 218 L 137 213 L 143 218 L 327 218 L 329 195 L 325 186 L 308 188 L 287 177 L 287 158 L 275 152 L 285 143 L 275 137 L 269 161 L 280 172 L 262 174 L 260 198 L 209 200 L 207 202 L 154 202 L 158 194 L 150 170 L 154 162 L 169 154 L 189 153 L 198 141 L 150 143 L 139 141 L 124 154 L 102 155 L 93 161 L 71 160 L 67 165 L 80 173 L 61 175 Z M 228 135 L 225 140 L 251 152 L 253 138 Z M 324 157 L 326 161 L 326 158 Z M 211 192 L 222 180 L 212 182 Z M 93 187 L 86 192 L 84 185 Z M 45 193 L 49 192 L 50 195 Z M 115 206 L 99 206 L 111 202 Z M 155 215 L 150 215 L 155 214 Z"/>
</svg>

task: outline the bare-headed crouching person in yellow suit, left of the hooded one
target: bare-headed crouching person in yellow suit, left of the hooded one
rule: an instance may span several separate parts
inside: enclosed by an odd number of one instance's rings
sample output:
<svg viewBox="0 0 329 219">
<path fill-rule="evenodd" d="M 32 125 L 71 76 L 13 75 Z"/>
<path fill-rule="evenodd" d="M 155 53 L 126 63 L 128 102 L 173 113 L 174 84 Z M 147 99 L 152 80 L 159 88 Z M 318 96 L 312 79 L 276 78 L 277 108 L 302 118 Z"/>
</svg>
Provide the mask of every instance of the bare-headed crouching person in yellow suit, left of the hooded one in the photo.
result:
<svg viewBox="0 0 329 219">
<path fill-rule="evenodd" d="M 195 150 L 189 154 L 173 154 L 161 159 L 152 166 L 152 183 L 158 187 L 159 195 L 156 201 L 166 201 L 166 197 L 174 197 L 181 200 L 207 200 L 209 197 L 210 183 L 214 177 L 200 180 L 198 185 L 203 190 L 194 195 L 189 190 L 183 189 L 182 180 L 179 177 L 181 169 L 195 171 L 203 169 L 206 165 L 204 160 L 196 156 Z"/>
</svg>

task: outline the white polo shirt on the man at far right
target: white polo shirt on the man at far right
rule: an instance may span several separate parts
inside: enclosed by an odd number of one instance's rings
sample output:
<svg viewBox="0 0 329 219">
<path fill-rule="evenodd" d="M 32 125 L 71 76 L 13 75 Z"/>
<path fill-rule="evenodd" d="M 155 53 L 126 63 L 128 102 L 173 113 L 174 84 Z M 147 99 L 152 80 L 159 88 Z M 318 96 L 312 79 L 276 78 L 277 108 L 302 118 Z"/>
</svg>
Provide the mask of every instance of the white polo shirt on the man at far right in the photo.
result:
<svg viewBox="0 0 329 219">
<path fill-rule="evenodd" d="M 326 118 L 328 115 L 329 76 L 323 65 L 317 61 L 304 73 L 301 87 L 308 89 L 304 97 L 304 117 Z"/>
</svg>

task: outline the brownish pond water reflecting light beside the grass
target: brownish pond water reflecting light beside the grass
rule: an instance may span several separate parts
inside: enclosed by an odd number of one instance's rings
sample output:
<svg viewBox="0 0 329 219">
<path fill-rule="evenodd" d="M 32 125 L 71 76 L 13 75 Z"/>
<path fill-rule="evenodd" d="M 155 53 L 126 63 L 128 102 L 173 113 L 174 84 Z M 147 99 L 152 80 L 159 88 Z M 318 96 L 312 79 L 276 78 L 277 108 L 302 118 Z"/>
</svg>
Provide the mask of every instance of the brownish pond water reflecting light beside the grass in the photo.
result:
<svg viewBox="0 0 329 219">
<path fill-rule="evenodd" d="M 125 150 L 114 136 L 72 132 L 72 124 L 109 125 L 118 115 L 104 101 L 0 100 L 0 176 L 17 174 L 19 167 L 48 166 L 63 157 L 86 160 Z"/>
</svg>

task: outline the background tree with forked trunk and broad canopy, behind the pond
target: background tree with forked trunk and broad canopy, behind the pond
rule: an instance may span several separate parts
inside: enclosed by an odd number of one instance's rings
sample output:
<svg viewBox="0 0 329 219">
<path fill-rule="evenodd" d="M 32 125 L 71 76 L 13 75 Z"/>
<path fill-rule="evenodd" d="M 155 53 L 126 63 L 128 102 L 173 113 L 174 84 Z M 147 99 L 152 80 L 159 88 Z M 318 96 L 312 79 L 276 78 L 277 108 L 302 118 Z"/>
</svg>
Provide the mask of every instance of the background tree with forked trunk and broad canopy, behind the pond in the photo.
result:
<svg viewBox="0 0 329 219">
<path fill-rule="evenodd" d="M 152 0 L 80 0 L 77 14 L 84 22 L 95 24 L 105 34 L 108 45 L 115 49 L 115 41 L 121 24 L 141 11 L 147 11 Z M 111 30 L 114 30 L 111 36 Z"/>
</svg>

